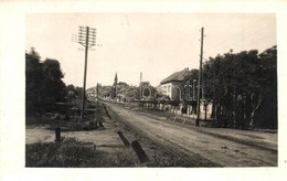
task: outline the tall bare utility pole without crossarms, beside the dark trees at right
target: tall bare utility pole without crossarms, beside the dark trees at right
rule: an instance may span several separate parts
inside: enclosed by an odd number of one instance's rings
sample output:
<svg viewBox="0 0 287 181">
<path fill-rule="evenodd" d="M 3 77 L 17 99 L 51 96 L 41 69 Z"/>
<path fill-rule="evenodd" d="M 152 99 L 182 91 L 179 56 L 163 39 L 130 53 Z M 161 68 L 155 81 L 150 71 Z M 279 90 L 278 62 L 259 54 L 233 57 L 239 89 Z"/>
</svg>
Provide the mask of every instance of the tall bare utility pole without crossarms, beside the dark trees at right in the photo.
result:
<svg viewBox="0 0 287 181">
<path fill-rule="evenodd" d="M 196 102 L 198 117 L 195 120 L 195 126 L 200 126 L 200 99 L 201 99 L 200 88 L 202 88 L 201 82 L 202 82 L 203 34 L 204 34 L 204 29 L 201 28 L 200 72 L 199 72 L 198 102 Z"/>
</svg>

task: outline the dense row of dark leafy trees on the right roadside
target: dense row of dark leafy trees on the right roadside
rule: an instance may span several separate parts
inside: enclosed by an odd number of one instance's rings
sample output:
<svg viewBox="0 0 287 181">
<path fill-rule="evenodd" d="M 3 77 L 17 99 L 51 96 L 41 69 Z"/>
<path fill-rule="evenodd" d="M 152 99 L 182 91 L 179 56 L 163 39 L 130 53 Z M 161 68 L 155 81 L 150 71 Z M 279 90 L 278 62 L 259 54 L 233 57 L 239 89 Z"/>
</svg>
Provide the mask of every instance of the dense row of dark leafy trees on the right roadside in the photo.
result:
<svg viewBox="0 0 287 181">
<path fill-rule="evenodd" d="M 210 57 L 203 65 L 203 86 L 221 125 L 277 128 L 276 46 Z"/>
</svg>

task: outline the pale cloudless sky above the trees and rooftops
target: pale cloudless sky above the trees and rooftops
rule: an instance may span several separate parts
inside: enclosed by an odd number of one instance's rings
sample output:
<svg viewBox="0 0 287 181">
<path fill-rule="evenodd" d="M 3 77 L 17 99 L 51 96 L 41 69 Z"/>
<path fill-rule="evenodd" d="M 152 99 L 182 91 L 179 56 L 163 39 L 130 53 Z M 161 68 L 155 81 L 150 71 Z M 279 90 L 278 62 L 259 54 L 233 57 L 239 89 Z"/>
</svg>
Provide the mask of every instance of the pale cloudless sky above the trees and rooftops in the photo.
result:
<svg viewBox="0 0 287 181">
<path fill-rule="evenodd" d="M 201 28 L 203 62 L 210 56 L 276 45 L 274 13 L 30 13 L 25 15 L 25 50 L 42 61 L 61 63 L 66 85 L 83 86 L 84 47 L 75 42 L 78 26 L 95 28 L 88 51 L 87 87 L 119 82 L 157 86 L 185 67 L 199 68 Z"/>
</svg>

